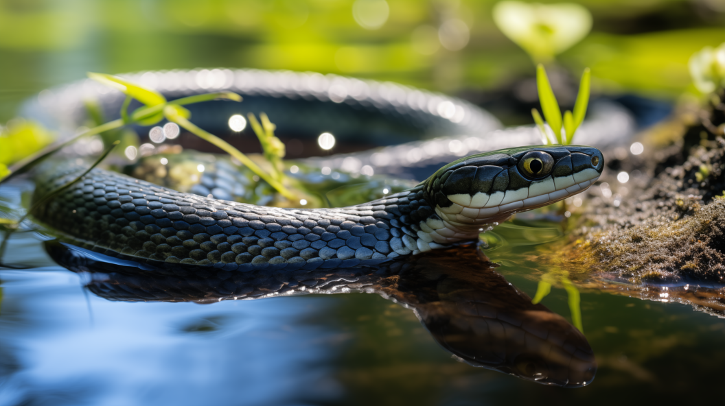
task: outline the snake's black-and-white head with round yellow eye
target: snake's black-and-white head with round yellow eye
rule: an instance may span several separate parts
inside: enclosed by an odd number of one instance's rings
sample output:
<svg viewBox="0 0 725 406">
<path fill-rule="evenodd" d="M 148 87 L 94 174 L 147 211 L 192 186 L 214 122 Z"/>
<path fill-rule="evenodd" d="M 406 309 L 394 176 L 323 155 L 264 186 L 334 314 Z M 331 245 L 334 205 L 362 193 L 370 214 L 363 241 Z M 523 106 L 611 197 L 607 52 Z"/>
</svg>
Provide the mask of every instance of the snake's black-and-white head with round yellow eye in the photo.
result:
<svg viewBox="0 0 725 406">
<path fill-rule="evenodd" d="M 424 190 L 439 219 L 457 233 L 450 237 L 460 240 L 513 213 L 581 193 L 596 182 L 603 169 L 604 157 L 597 148 L 509 148 L 454 161 L 428 178 Z M 436 242 L 450 241 L 442 238 Z"/>
</svg>

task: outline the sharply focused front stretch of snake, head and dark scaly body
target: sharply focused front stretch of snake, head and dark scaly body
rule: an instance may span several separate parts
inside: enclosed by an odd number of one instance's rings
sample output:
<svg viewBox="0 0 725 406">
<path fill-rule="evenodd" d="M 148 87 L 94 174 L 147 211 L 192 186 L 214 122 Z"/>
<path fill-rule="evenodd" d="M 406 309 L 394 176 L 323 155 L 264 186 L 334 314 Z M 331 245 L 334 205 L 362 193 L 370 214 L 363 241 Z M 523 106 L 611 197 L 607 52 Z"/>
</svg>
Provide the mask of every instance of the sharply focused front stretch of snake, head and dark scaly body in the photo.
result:
<svg viewBox="0 0 725 406">
<path fill-rule="evenodd" d="M 519 160 L 530 151 L 548 151 L 558 160 L 552 174 L 531 180 L 520 173 Z M 596 148 L 512 148 L 462 158 L 418 186 L 383 199 L 316 209 L 215 200 L 94 169 L 34 214 L 76 244 L 141 261 L 230 271 L 376 265 L 475 240 L 479 232 L 513 213 L 581 192 L 596 180 L 603 164 Z M 472 182 L 473 173 L 479 169 L 488 173 L 484 169 L 492 166 L 507 174 L 505 182 L 498 175 L 483 186 Z M 45 166 L 36 174 L 35 198 L 70 182 L 82 169 L 70 164 Z M 587 179 L 581 177 L 584 174 Z M 542 185 L 554 187 L 556 179 L 570 177 L 571 193 L 558 188 L 552 198 L 548 194 L 527 198 L 529 190 L 540 193 Z M 463 207 L 451 200 L 471 202 L 481 193 L 491 193 L 493 199 L 502 191 L 506 197 L 493 208 Z M 512 203 L 508 198 L 521 200 Z M 471 214 L 484 212 L 489 214 Z"/>
</svg>

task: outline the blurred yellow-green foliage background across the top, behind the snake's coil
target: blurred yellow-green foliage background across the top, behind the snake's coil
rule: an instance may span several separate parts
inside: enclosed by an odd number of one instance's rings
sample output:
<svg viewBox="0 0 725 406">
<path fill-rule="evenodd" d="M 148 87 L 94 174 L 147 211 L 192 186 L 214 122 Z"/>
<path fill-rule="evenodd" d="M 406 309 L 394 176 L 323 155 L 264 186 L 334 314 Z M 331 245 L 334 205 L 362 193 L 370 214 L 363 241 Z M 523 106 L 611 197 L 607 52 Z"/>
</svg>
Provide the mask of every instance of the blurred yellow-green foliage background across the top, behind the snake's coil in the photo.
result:
<svg viewBox="0 0 725 406">
<path fill-rule="evenodd" d="M 379 3 L 367 2 L 367 9 Z M 592 32 L 557 59 L 572 72 L 591 67 L 597 92 L 675 97 L 691 83 L 689 56 L 725 38 L 719 0 L 568 2 L 591 12 Z M 0 0 L 0 120 L 28 96 L 88 70 L 311 70 L 447 92 L 534 76 L 526 51 L 494 25 L 496 0 L 386 0 L 379 28 L 374 19 L 356 21 L 354 4 Z"/>
</svg>

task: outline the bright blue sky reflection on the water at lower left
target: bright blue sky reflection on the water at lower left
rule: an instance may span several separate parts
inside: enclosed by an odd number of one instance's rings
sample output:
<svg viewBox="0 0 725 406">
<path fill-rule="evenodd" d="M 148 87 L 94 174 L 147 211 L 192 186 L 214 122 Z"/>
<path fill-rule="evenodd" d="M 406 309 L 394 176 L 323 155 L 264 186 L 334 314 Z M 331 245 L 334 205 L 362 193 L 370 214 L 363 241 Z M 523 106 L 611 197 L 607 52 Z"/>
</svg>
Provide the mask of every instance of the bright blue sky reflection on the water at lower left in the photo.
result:
<svg viewBox="0 0 725 406">
<path fill-rule="evenodd" d="M 336 333 L 310 322 L 326 298 L 117 303 L 84 295 L 79 276 L 48 265 L 2 273 L 0 345 L 14 359 L 3 357 L 13 366 L 2 368 L 0 404 L 270 405 L 341 394 L 326 365 Z"/>
</svg>

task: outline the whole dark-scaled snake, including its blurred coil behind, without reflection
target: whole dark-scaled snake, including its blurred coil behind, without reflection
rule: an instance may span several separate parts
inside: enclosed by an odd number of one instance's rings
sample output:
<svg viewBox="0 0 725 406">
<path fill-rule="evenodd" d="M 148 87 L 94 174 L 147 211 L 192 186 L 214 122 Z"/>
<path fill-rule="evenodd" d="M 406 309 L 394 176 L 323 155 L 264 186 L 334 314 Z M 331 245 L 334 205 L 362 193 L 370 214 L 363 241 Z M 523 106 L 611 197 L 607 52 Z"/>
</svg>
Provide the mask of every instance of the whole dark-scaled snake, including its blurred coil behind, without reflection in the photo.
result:
<svg viewBox="0 0 725 406">
<path fill-rule="evenodd" d="M 233 90 L 250 109 L 265 109 L 278 130 L 292 134 L 332 129 L 344 140 L 368 131 L 396 142 L 411 135 L 475 135 L 497 145 L 481 137 L 499 126 L 485 111 L 392 83 L 254 69 L 145 72 L 128 79 L 155 85 L 168 98 Z M 69 119 L 82 122 L 78 106 L 89 91 L 107 114 L 123 103 L 123 93 L 85 81 L 41 93 L 23 111 L 62 130 Z M 200 103 L 191 106 L 192 117 L 213 130 L 241 104 Z M 241 271 L 344 268 L 476 240 L 515 213 L 586 190 L 603 168 L 602 153 L 582 145 L 502 148 L 459 158 L 415 187 L 368 203 L 312 209 L 181 193 L 93 169 L 34 215 L 82 247 L 138 261 Z M 34 175 L 35 198 L 84 170 L 72 159 L 43 166 Z"/>
</svg>

